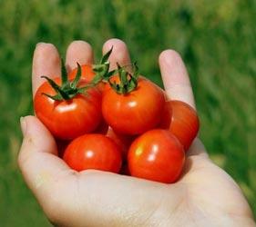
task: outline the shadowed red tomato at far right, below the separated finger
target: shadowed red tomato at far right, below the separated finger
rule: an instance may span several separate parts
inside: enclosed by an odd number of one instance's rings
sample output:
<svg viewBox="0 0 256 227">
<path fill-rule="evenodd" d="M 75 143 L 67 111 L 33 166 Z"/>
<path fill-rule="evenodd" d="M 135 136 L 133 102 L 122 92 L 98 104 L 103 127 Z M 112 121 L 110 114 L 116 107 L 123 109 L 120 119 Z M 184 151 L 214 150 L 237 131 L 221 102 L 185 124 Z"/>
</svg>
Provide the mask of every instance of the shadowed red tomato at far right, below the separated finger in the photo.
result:
<svg viewBox="0 0 256 227">
<path fill-rule="evenodd" d="M 177 100 L 167 102 L 166 111 L 162 117 L 162 127 L 169 129 L 179 139 L 184 150 L 188 151 L 200 128 L 196 111 L 189 104 Z"/>
</svg>

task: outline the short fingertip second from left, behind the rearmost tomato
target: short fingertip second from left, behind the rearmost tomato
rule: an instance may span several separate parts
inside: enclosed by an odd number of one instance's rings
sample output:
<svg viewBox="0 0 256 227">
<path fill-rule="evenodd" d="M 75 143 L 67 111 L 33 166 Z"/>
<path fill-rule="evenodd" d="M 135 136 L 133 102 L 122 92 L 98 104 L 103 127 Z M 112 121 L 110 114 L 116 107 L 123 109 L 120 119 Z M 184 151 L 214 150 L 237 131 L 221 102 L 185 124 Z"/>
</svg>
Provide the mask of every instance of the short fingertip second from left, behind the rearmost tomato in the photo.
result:
<svg viewBox="0 0 256 227">
<path fill-rule="evenodd" d="M 67 72 L 77 68 L 77 63 L 93 64 L 93 51 L 90 44 L 85 41 L 77 40 L 67 47 L 66 66 Z"/>
</svg>

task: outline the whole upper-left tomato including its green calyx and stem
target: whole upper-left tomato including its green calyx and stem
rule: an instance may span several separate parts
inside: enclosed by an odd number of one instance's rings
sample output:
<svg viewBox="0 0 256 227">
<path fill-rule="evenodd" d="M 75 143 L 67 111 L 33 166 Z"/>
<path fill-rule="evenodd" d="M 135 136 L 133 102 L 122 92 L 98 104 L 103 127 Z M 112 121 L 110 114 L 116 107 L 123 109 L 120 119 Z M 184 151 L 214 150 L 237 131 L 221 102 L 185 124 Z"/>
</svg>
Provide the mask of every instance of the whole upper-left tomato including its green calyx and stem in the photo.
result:
<svg viewBox="0 0 256 227">
<path fill-rule="evenodd" d="M 111 51 L 102 57 L 100 64 L 94 66 L 96 74 L 90 83 L 81 78 L 79 64 L 74 79 L 68 78 L 63 63 L 61 78 L 52 80 L 42 76 L 46 82 L 36 91 L 35 112 L 56 138 L 71 140 L 95 131 L 101 123 L 102 95 L 95 85 L 109 74 L 108 56 Z"/>
</svg>

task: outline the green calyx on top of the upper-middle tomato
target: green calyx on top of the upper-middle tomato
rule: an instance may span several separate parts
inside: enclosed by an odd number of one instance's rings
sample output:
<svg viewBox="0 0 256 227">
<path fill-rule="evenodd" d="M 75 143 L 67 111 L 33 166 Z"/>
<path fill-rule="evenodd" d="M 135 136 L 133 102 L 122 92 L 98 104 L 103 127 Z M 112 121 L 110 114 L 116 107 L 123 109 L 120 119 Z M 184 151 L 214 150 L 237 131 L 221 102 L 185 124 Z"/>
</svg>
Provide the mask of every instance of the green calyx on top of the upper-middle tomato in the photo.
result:
<svg viewBox="0 0 256 227">
<path fill-rule="evenodd" d="M 110 77 L 108 78 L 108 83 L 118 94 L 128 94 L 135 90 L 138 86 L 138 65 L 137 63 L 132 64 L 133 73 L 130 74 L 126 70 L 126 66 L 120 66 L 118 64 L 118 77 L 120 83 L 115 81 L 112 83 Z"/>
</svg>

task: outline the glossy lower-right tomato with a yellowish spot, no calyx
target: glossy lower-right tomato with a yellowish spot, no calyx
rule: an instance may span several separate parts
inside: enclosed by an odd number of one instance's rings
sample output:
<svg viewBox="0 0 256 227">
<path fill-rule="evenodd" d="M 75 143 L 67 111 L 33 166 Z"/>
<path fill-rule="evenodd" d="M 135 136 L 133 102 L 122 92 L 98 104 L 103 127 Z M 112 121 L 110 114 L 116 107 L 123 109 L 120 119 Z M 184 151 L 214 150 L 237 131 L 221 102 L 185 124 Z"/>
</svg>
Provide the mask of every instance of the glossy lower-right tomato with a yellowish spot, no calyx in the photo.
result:
<svg viewBox="0 0 256 227">
<path fill-rule="evenodd" d="M 132 176 L 174 183 L 185 162 L 178 139 L 168 130 L 154 129 L 140 135 L 128 151 L 128 169 Z"/>
</svg>

